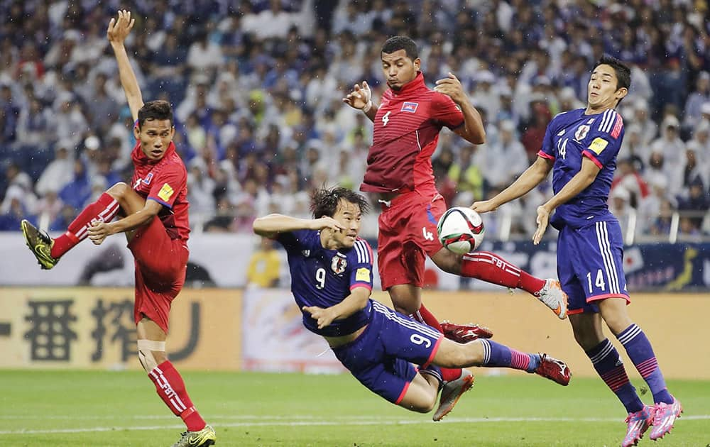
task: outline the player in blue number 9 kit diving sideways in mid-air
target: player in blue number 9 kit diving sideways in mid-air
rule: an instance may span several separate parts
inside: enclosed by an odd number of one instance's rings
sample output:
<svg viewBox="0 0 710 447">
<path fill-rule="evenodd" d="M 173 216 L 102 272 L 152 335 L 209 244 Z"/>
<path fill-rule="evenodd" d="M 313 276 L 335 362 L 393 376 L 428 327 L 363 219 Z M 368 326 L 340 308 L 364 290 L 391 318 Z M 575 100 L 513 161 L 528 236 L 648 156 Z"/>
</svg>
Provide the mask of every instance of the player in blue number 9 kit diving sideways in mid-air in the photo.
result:
<svg viewBox="0 0 710 447">
<path fill-rule="evenodd" d="M 434 408 L 441 388 L 435 421 L 474 382 L 467 373 L 442 384 L 439 367 L 507 367 L 569 383 L 569 368 L 560 360 L 491 340 L 456 343 L 370 299 L 372 250 L 358 238 L 367 208 L 365 198 L 349 189 L 321 189 L 312 198 L 315 219 L 269 214 L 253 223 L 255 233 L 286 249 L 303 324 L 326 339 L 357 380 L 388 401 L 422 413 Z"/>
</svg>

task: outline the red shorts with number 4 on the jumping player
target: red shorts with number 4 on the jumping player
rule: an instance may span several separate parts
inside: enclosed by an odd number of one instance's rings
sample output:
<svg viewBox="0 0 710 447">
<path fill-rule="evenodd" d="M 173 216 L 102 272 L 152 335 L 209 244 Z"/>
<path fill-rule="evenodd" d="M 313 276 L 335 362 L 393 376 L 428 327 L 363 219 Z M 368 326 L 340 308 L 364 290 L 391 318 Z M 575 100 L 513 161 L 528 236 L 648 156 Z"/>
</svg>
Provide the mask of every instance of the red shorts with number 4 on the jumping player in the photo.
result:
<svg viewBox="0 0 710 447">
<path fill-rule="evenodd" d="M 382 289 L 424 285 L 425 254 L 442 249 L 437 237 L 439 217 L 447 210 L 444 197 L 432 192 L 406 192 L 382 204 L 377 237 L 377 266 Z"/>
</svg>

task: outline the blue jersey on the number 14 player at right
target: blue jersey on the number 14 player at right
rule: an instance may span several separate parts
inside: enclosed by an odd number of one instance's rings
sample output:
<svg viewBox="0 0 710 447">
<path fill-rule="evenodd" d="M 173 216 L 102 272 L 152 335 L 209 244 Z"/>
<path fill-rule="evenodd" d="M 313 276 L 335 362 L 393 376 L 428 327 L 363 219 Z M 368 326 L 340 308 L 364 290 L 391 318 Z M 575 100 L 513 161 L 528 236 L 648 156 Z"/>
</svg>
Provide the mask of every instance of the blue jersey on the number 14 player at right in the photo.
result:
<svg viewBox="0 0 710 447">
<path fill-rule="evenodd" d="M 542 149 L 537 153 L 540 157 L 555 160 L 552 167 L 555 194 L 581 170 L 582 157 L 589 158 L 600 169 L 589 187 L 557 207 L 550 221 L 557 229 L 565 225 L 579 228 L 598 221 L 616 220 L 606 201 L 616 170 L 616 155 L 623 140 L 623 119 L 613 109 L 592 115 L 584 114 L 584 110 L 572 110 L 552 118 Z"/>
</svg>

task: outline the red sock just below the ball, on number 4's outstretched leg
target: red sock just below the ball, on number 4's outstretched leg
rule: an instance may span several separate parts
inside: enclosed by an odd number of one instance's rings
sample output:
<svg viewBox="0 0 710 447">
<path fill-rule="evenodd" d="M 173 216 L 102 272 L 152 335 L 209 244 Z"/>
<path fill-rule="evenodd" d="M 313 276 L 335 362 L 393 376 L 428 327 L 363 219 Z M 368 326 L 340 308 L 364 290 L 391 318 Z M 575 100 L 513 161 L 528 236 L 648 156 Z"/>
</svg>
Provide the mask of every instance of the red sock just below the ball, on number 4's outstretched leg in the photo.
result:
<svg viewBox="0 0 710 447">
<path fill-rule="evenodd" d="M 461 275 L 492 284 L 523 289 L 533 295 L 545 287 L 545 280 L 540 280 L 487 251 L 464 255 L 461 259 Z"/>
</svg>

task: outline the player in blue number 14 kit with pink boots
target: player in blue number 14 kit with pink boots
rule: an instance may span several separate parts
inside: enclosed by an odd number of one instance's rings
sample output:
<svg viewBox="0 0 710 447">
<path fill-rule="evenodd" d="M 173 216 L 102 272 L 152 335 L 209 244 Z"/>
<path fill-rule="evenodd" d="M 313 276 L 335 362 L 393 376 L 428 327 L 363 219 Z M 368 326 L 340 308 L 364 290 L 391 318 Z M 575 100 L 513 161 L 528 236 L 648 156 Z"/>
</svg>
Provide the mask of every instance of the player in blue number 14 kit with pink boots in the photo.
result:
<svg viewBox="0 0 710 447">
<path fill-rule="evenodd" d="M 628 426 L 622 446 L 636 445 L 650 426 L 650 438 L 662 438 L 682 412 L 680 402 L 666 388 L 648 338 L 626 311 L 630 300 L 621 227 L 606 204 L 624 135 L 615 108 L 628 93 L 630 81 L 626 65 L 601 57 L 591 72 L 586 109 L 555 116 L 532 166 L 496 197 L 471 206 L 479 212 L 493 211 L 529 192 L 552 170 L 555 196 L 537 208 L 532 241 L 540 243 L 548 221 L 559 230 L 557 273 L 569 297 L 569 322 L 594 369 L 626 407 Z M 616 348 L 603 334 L 602 320 L 648 383 L 654 405 L 639 399 Z"/>
</svg>

